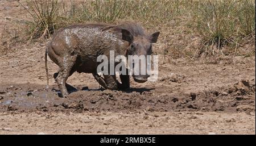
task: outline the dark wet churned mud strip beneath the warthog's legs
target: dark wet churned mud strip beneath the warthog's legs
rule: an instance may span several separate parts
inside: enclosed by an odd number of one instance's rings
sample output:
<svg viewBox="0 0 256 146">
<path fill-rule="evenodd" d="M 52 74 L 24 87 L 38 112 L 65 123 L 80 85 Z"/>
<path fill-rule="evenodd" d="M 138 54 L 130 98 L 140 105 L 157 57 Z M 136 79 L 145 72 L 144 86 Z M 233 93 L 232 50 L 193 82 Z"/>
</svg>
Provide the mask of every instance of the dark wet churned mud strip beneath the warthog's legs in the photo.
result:
<svg viewBox="0 0 256 146">
<path fill-rule="evenodd" d="M 235 85 L 234 85 L 235 86 Z M 46 91 L 43 85 L 21 84 L 1 86 L 0 111 L 253 111 L 254 91 L 242 94 L 233 86 L 226 89 L 210 90 L 199 93 L 176 94 L 156 93 L 156 89 L 132 88 L 126 91 L 88 89 L 75 90 L 69 87 L 68 98 L 60 98 L 55 86 Z M 31 90 L 36 89 L 36 90 Z M 233 90 L 232 90 L 233 89 Z M 225 92 L 227 91 L 227 92 Z M 170 92 L 170 93 L 168 93 Z M 241 94 L 241 95 L 238 95 Z M 249 106 L 249 109 L 241 106 Z"/>
</svg>

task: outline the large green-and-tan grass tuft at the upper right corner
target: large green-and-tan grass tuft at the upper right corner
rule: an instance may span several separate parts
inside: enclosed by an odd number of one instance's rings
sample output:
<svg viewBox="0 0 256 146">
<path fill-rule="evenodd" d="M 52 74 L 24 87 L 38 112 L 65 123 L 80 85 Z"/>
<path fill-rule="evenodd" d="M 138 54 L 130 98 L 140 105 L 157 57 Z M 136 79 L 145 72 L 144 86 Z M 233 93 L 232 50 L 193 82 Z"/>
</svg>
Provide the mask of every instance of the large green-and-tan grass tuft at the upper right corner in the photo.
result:
<svg viewBox="0 0 256 146">
<path fill-rule="evenodd" d="M 193 20 L 205 42 L 218 47 L 237 43 L 243 36 L 255 35 L 255 1 L 202 1 L 193 11 Z"/>
</svg>

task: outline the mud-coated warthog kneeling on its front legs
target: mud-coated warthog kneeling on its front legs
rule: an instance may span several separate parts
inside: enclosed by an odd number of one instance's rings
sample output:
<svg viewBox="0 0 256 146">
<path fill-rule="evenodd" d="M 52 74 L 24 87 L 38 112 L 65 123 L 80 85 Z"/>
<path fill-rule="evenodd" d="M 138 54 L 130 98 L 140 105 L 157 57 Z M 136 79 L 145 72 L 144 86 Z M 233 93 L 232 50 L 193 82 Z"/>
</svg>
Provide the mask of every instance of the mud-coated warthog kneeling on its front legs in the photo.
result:
<svg viewBox="0 0 256 146">
<path fill-rule="evenodd" d="M 76 24 L 61 28 L 57 31 L 46 48 L 45 63 L 47 74 L 47 88 L 49 84 L 47 54 L 59 66 L 59 71 L 53 75 L 61 91 L 61 95 L 68 95 L 66 81 L 74 72 L 92 73 L 98 83 L 106 89 L 127 89 L 130 87 L 129 74 L 98 75 L 97 62 L 99 55 L 109 57 L 109 52 L 115 55 L 151 55 L 151 43 L 156 43 L 160 32 L 148 35 L 141 24 L 123 22 L 120 24 L 90 23 Z M 133 75 L 136 82 L 147 81 L 148 75 Z"/>
</svg>

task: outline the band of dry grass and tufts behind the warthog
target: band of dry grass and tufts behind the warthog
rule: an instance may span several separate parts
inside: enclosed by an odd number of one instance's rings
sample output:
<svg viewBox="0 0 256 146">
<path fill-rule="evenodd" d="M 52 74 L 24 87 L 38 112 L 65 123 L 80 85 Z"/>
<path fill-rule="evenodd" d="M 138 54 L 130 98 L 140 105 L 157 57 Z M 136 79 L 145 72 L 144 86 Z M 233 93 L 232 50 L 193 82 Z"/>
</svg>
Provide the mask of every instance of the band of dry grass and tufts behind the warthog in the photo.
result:
<svg viewBox="0 0 256 146">
<path fill-rule="evenodd" d="M 22 29 L 25 43 L 42 38 L 45 41 L 57 29 L 73 23 L 137 20 L 147 29 L 161 32 L 157 53 L 167 57 L 195 60 L 212 55 L 255 55 L 253 0 L 35 0 L 18 3 L 27 11 L 26 18 L 22 18 L 22 23 L 19 21 L 19 27 L 26 28 L 26 35 Z M 15 43 L 16 35 L 19 37 L 18 32 L 15 36 L 7 33 L 11 39 L 1 39 L 2 52 Z"/>
</svg>

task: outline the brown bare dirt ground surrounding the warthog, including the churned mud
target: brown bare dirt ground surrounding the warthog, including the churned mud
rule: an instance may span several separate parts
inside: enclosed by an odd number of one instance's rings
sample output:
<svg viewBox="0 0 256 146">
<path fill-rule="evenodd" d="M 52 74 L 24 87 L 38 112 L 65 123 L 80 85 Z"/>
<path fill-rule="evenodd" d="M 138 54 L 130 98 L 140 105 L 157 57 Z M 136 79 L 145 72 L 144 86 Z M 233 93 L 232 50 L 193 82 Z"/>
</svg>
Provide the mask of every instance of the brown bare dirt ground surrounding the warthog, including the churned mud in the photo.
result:
<svg viewBox="0 0 256 146">
<path fill-rule="evenodd" d="M 0 1 L 1 31 L 20 9 Z M 60 98 L 51 60 L 45 90 L 45 48 L 20 45 L 0 57 L 0 134 L 255 134 L 255 57 L 159 55 L 156 82 L 131 78 L 130 90 L 111 91 L 91 74 L 74 73 L 68 84 L 77 91 Z"/>
</svg>

